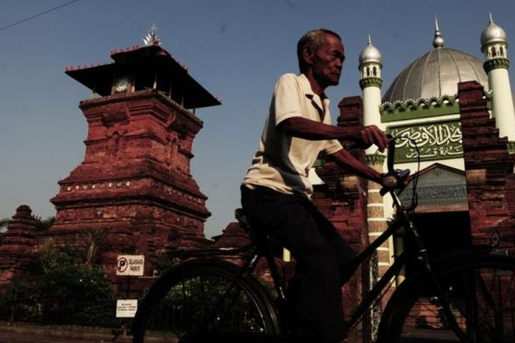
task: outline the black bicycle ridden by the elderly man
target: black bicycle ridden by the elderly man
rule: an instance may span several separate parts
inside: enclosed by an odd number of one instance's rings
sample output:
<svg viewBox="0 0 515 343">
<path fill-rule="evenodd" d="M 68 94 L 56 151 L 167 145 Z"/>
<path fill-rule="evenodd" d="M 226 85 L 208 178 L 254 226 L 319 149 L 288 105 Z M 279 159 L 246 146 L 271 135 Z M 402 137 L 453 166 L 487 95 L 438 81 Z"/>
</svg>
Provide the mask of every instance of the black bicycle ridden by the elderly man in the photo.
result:
<svg viewBox="0 0 515 343">
<path fill-rule="evenodd" d="M 356 257 L 354 270 L 402 230 L 409 235 L 411 248 L 397 256 L 363 296 L 345 321 L 345 334 L 369 313 L 407 261 L 415 261 L 422 268 L 393 292 L 382 312 L 376 342 L 415 342 L 422 330 L 417 328 L 421 314 L 433 318 L 422 326 L 439 333 L 446 342 L 515 342 L 515 259 L 499 255 L 490 246 L 470 246 L 430 259 L 410 217 L 415 201 L 404 206 L 398 196 L 409 171 L 393 168 L 394 147 L 391 139 L 385 177 L 389 188 L 381 193 L 390 193 L 397 215 L 385 233 Z M 413 191 L 415 186 L 416 180 Z M 163 274 L 141 301 L 133 322 L 133 343 L 150 342 L 152 335 L 184 343 L 288 340 L 284 281 L 268 237 L 253 230 L 240 210 L 236 217 L 253 237 L 252 243 L 242 248 L 172 252 L 172 257 L 187 261 Z M 214 258 L 221 255 L 243 255 L 243 263 L 236 266 Z M 271 300 L 252 276 L 262 257 L 271 272 L 276 300 Z"/>
</svg>

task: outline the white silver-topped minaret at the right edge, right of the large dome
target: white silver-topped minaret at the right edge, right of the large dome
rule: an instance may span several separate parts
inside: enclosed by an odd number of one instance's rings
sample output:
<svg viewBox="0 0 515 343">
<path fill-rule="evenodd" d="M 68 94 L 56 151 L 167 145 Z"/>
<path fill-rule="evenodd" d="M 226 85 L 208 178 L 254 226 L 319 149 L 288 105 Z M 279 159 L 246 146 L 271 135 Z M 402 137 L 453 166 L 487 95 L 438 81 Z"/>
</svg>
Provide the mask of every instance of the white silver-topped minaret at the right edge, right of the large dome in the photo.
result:
<svg viewBox="0 0 515 343">
<path fill-rule="evenodd" d="M 508 43 L 504 30 L 494 23 L 492 14 L 487 27 L 481 34 L 481 51 L 485 54 L 483 68 L 488 74 L 488 84 L 492 89 L 492 113 L 499 128 L 499 137 L 515 141 L 515 113 L 507 58 Z"/>
</svg>

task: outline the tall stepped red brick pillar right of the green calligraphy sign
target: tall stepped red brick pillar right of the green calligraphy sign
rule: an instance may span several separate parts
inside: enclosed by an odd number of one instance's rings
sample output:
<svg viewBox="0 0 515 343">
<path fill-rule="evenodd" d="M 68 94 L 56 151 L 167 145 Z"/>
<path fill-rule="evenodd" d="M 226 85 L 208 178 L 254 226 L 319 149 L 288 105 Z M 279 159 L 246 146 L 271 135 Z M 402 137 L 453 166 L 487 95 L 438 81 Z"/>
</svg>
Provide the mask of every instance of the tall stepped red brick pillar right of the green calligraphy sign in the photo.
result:
<svg viewBox="0 0 515 343">
<path fill-rule="evenodd" d="M 472 241 L 489 244 L 498 232 L 501 246 L 513 250 L 514 157 L 508 154 L 507 138 L 499 138 L 490 119 L 483 87 L 475 81 L 461 82 L 458 97 Z"/>
</svg>

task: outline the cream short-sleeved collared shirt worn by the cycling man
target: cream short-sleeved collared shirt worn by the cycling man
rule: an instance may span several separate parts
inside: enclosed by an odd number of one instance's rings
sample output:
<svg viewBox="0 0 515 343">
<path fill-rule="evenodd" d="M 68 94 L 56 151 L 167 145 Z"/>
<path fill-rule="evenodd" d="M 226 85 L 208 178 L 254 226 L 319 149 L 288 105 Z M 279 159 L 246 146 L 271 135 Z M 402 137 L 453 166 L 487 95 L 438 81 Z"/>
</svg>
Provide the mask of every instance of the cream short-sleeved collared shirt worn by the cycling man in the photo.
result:
<svg viewBox="0 0 515 343">
<path fill-rule="evenodd" d="M 319 153 L 333 154 L 342 146 L 336 139 L 310 141 L 277 130 L 279 123 L 291 117 L 331 123 L 329 99 L 314 94 L 304 74 L 286 73 L 277 80 L 258 152 L 243 185 L 311 197 L 313 187 L 308 172 Z"/>
</svg>

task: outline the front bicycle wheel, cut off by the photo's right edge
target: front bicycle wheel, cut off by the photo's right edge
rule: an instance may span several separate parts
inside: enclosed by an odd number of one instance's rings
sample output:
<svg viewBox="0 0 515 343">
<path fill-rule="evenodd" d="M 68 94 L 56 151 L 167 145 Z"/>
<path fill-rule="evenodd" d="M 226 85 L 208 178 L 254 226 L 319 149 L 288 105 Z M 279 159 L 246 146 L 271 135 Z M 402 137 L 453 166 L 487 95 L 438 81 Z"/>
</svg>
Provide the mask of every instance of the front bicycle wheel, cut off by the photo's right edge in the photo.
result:
<svg viewBox="0 0 515 343">
<path fill-rule="evenodd" d="M 468 342 L 515 342 L 515 259 L 468 255 L 439 264 L 445 298 Z M 404 281 L 382 316 L 378 342 L 461 342 L 427 276 Z"/>
</svg>

